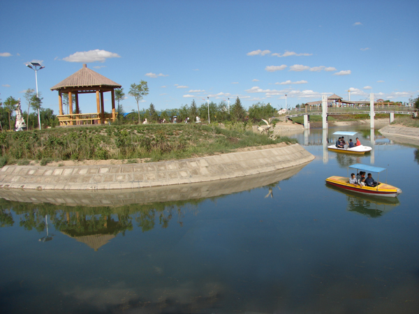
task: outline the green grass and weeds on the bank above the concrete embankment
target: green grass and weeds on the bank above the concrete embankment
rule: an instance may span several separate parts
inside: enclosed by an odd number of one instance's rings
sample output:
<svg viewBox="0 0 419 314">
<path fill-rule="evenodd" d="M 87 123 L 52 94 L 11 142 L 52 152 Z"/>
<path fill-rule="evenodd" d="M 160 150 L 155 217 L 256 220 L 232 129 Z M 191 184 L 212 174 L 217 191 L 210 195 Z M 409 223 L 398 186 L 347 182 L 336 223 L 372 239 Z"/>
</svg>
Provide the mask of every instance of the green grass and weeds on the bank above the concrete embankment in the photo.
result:
<svg viewBox="0 0 419 314">
<path fill-rule="evenodd" d="M 1 132 L 0 167 L 49 163 L 60 166 L 66 160 L 154 162 L 297 142 L 289 137 L 272 139 L 251 128 L 245 122 L 230 122 L 223 128 L 218 124 L 147 124 Z"/>
</svg>

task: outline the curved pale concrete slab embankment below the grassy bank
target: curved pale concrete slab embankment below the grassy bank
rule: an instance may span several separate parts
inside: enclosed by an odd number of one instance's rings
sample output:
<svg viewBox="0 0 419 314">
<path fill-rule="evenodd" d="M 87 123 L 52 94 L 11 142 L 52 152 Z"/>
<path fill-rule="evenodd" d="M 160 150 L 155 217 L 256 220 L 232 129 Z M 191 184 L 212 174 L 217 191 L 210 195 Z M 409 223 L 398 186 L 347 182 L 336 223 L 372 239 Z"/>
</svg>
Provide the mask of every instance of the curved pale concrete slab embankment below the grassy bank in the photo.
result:
<svg viewBox="0 0 419 314">
<path fill-rule="evenodd" d="M 302 165 L 314 156 L 299 144 L 158 163 L 71 167 L 4 166 L 0 188 L 113 190 L 230 179 Z"/>
</svg>

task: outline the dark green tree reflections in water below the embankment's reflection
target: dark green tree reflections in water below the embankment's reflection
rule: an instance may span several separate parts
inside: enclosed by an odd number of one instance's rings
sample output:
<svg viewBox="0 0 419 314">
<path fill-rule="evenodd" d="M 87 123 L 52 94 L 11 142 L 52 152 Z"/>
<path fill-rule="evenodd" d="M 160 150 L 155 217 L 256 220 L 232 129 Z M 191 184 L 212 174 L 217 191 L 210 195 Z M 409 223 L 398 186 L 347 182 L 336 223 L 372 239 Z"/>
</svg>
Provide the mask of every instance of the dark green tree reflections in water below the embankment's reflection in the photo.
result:
<svg viewBox="0 0 419 314">
<path fill-rule="evenodd" d="M 203 200 L 178 201 L 154 204 L 130 204 L 123 207 L 66 207 L 49 203 L 32 204 L 12 202 L 0 199 L 0 226 L 14 225 L 13 214 L 19 216 L 19 225 L 25 230 L 45 230 L 45 215 L 50 217 L 55 230 L 64 232 L 71 237 L 81 237 L 91 234 L 113 234 L 133 230 L 133 223 L 142 232 L 152 230 L 159 218 L 161 227 L 168 227 L 173 214 L 182 225 L 182 209 L 196 209 Z"/>
</svg>

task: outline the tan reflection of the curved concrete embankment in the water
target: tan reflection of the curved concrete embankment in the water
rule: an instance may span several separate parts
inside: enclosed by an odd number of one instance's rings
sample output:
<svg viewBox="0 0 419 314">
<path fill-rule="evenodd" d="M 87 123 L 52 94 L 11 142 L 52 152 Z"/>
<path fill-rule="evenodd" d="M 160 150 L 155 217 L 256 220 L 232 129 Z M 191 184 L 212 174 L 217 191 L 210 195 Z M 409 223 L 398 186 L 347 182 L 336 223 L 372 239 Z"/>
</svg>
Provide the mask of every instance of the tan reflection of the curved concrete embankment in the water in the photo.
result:
<svg viewBox="0 0 419 314">
<path fill-rule="evenodd" d="M 297 165 L 281 170 L 253 174 L 233 179 L 155 186 L 152 188 L 133 188 L 128 190 L 20 190 L 0 189 L 0 197 L 15 202 L 50 203 L 59 206 L 82 207 L 122 207 L 130 204 L 151 204 L 155 202 L 178 202 L 219 197 L 244 190 L 260 188 L 293 177 L 307 165 Z M 281 193 L 277 188 L 267 189 L 265 197 Z"/>
</svg>

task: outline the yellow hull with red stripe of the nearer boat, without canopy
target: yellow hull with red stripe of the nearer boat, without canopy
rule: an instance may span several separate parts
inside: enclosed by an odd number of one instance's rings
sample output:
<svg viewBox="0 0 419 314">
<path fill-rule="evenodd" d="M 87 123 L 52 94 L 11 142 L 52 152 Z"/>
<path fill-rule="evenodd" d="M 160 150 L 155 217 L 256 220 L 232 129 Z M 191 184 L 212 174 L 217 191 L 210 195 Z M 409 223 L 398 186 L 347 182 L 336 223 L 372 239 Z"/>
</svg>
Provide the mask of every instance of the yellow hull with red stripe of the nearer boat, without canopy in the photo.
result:
<svg viewBox="0 0 419 314">
<path fill-rule="evenodd" d="M 381 183 L 375 188 L 369 186 L 354 186 L 353 184 L 348 183 L 348 178 L 346 177 L 328 177 L 328 179 L 326 179 L 326 183 L 332 186 L 336 186 L 337 188 L 351 190 L 352 192 L 364 195 L 396 197 L 397 195 L 402 193 L 402 190 L 396 188 L 395 186 L 390 186 L 390 184 Z"/>
</svg>

